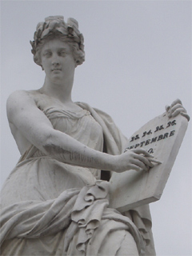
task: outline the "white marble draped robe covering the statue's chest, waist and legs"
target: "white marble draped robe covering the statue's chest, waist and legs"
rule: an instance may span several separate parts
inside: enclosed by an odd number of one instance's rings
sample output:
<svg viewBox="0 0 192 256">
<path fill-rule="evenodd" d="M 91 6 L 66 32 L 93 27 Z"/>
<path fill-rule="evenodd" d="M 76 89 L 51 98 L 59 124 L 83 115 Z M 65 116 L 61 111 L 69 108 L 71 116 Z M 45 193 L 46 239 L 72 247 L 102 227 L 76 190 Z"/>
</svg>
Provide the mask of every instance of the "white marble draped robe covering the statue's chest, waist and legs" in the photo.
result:
<svg viewBox="0 0 192 256">
<path fill-rule="evenodd" d="M 43 112 L 54 129 L 94 150 L 121 154 L 128 140 L 110 116 L 77 104 L 77 113 Z M 149 206 L 123 215 L 110 209 L 109 182 L 100 175 L 31 145 L 2 187 L 2 255 L 124 255 L 134 244 L 139 255 L 154 255 Z"/>
</svg>

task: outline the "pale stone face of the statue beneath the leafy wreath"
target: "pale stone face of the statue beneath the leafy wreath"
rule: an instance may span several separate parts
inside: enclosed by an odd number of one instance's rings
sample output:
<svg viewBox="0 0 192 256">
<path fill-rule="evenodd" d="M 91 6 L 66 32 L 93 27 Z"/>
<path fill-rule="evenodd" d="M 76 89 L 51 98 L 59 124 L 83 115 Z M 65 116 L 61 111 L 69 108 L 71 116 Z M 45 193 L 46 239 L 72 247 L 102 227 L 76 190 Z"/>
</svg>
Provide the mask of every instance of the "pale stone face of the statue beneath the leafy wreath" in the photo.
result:
<svg viewBox="0 0 192 256">
<path fill-rule="evenodd" d="M 60 39 L 52 39 L 42 46 L 41 61 L 46 78 L 52 82 L 74 76 L 75 62 L 70 46 Z"/>
</svg>

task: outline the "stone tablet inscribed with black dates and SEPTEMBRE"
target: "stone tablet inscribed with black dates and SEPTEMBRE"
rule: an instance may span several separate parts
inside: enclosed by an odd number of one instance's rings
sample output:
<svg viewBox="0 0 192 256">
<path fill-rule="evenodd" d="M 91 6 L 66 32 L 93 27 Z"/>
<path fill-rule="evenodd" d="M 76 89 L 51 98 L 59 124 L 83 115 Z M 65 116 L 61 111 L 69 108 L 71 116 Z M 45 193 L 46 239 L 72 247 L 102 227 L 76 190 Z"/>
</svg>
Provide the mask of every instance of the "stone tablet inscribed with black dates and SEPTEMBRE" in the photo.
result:
<svg viewBox="0 0 192 256">
<path fill-rule="evenodd" d="M 114 173 L 110 179 L 110 207 L 124 212 L 161 198 L 187 123 L 181 114 L 168 118 L 166 112 L 147 122 L 131 136 L 128 149 L 145 149 L 162 163 L 155 164 L 148 172 L 129 170 Z"/>
</svg>

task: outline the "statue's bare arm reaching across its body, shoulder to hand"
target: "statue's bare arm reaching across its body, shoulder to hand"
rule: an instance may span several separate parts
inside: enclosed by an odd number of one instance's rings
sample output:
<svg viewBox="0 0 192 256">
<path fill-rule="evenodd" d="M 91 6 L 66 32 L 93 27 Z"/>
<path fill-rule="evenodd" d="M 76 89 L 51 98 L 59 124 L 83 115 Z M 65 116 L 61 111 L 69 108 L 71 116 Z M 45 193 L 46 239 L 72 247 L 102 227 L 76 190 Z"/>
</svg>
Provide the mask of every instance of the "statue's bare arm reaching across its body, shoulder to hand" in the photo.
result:
<svg viewBox="0 0 192 256">
<path fill-rule="evenodd" d="M 148 170 L 150 154 L 145 150 L 128 150 L 110 155 L 93 150 L 69 135 L 54 130 L 50 120 L 38 109 L 33 96 L 27 91 L 16 91 L 7 100 L 10 125 L 44 154 L 74 166 L 112 170 Z"/>
</svg>

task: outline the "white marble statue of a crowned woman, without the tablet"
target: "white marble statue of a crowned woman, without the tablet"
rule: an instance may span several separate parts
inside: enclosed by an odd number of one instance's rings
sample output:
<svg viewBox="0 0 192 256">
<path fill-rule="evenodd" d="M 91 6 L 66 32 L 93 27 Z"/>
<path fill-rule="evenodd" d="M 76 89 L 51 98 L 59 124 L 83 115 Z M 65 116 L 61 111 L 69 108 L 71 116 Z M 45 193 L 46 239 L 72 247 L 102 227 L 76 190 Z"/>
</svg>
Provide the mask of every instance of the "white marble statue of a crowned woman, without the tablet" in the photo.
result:
<svg viewBox="0 0 192 256">
<path fill-rule="evenodd" d="M 48 17 L 30 43 L 46 78 L 7 101 L 21 158 L 1 192 L 2 255 L 155 255 L 149 206 L 109 208 L 108 181 L 157 162 L 141 148 L 125 150 L 128 140 L 108 114 L 72 101 L 74 71 L 85 61 L 78 22 Z M 179 100 L 167 111 L 188 118 Z"/>
</svg>

